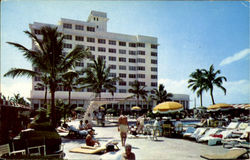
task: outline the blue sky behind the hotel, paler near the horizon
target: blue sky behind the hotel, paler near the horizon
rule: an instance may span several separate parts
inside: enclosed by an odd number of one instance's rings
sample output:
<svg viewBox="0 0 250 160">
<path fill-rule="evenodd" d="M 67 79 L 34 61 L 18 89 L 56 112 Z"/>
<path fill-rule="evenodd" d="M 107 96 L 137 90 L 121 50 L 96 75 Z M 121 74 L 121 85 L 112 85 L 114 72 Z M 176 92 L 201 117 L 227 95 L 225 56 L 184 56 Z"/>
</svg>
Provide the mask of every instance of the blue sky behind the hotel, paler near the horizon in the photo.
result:
<svg viewBox="0 0 250 160">
<path fill-rule="evenodd" d="M 226 95 L 215 87 L 215 103 L 250 103 L 249 2 L 247 1 L 1 1 L 1 92 L 30 97 L 31 79 L 3 77 L 13 67 L 31 68 L 6 42 L 31 48 L 29 24 L 57 24 L 61 18 L 86 21 L 91 10 L 106 12 L 108 32 L 158 38 L 158 83 L 167 92 L 199 98 L 187 88 L 189 75 L 213 64 L 225 76 Z M 209 92 L 203 105 L 212 104 Z"/>
</svg>

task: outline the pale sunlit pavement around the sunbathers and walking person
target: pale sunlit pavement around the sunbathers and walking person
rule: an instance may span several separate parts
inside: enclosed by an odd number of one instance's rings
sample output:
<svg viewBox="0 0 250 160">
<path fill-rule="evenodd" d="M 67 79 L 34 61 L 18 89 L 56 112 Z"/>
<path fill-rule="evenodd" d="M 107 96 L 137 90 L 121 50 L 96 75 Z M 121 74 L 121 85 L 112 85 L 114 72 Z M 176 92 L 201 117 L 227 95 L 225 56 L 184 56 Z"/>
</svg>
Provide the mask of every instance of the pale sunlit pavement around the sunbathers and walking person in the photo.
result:
<svg viewBox="0 0 250 160">
<path fill-rule="evenodd" d="M 118 147 L 119 153 L 124 152 L 124 147 L 121 146 L 120 134 L 117 130 L 116 120 L 109 120 L 104 127 L 95 126 L 95 138 L 101 143 L 105 143 L 109 140 L 119 141 Z M 79 120 L 70 122 L 70 124 L 76 127 L 79 124 Z M 100 159 L 100 154 L 81 154 L 71 153 L 69 150 L 76 147 L 85 145 L 84 139 L 67 139 L 62 138 L 64 144 L 65 159 L 78 160 L 78 159 Z M 222 145 L 208 146 L 207 144 L 196 143 L 186 139 L 166 138 L 158 137 L 157 141 L 153 141 L 147 136 L 139 136 L 134 138 L 128 135 L 127 142 L 132 145 L 132 152 L 135 153 L 136 159 L 141 160 L 199 160 L 201 154 L 223 154 L 227 152 Z"/>
</svg>

